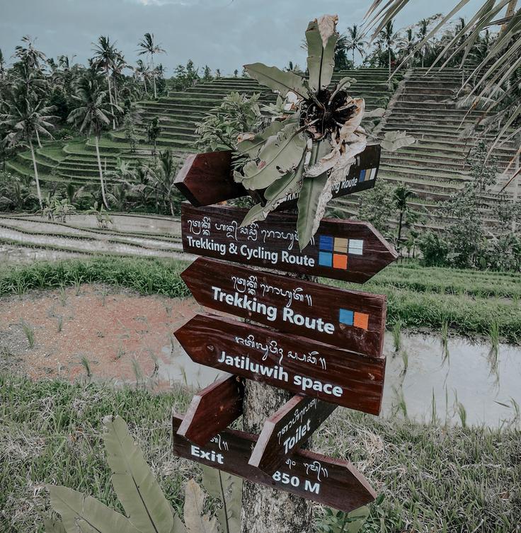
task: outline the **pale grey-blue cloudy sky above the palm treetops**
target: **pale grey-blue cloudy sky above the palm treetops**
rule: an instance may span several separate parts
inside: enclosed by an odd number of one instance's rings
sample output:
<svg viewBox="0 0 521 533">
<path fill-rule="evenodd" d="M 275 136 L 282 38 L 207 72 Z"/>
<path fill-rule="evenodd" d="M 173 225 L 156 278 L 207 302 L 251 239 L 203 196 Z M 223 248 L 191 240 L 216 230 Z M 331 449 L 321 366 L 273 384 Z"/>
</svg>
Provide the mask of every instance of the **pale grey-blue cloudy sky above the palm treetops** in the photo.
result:
<svg viewBox="0 0 521 533">
<path fill-rule="evenodd" d="M 395 28 L 436 12 L 448 12 L 456 0 L 412 0 Z M 475 0 L 464 13 L 470 13 Z M 324 13 L 338 13 L 338 30 L 360 23 L 370 0 L 0 0 L 0 49 L 6 59 L 22 35 L 38 38 L 48 57 L 91 57 L 91 43 L 110 35 L 127 62 L 137 57 L 137 42 L 154 33 L 167 54 L 157 60 L 173 74 L 177 64 L 193 59 L 222 74 L 241 65 L 264 62 L 304 66 L 300 42 L 307 23 Z"/>
</svg>

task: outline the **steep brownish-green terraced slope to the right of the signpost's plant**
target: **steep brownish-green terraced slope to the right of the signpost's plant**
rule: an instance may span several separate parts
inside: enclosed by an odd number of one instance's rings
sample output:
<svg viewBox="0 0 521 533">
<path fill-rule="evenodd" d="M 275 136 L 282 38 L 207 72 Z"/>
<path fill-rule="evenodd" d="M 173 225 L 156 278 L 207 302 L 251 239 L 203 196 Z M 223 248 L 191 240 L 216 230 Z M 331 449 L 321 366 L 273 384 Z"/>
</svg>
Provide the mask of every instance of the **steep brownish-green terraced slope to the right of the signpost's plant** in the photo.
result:
<svg viewBox="0 0 521 533">
<path fill-rule="evenodd" d="M 440 200 L 446 200 L 470 179 L 466 155 L 476 146 L 476 137 L 462 138 L 462 131 L 473 124 L 479 111 L 457 108 L 454 96 L 461 87 L 461 69 L 443 69 L 427 74 L 428 69 L 411 69 L 394 94 L 381 131 L 406 130 L 416 137 L 416 143 L 394 153 L 384 152 L 379 176 L 397 185 L 405 182 L 418 197 L 418 207 L 431 212 Z M 486 136 L 491 141 L 494 136 Z M 500 170 L 515 155 L 515 144 L 507 142 L 495 149 Z M 511 189 L 510 189 L 511 190 Z M 491 207 L 496 198 L 484 195 Z M 338 200 L 337 205 L 354 213 L 356 195 Z M 414 203 L 414 202 L 413 202 Z M 493 224 L 488 210 L 483 216 Z M 439 224 L 433 219 L 430 224 Z"/>
</svg>

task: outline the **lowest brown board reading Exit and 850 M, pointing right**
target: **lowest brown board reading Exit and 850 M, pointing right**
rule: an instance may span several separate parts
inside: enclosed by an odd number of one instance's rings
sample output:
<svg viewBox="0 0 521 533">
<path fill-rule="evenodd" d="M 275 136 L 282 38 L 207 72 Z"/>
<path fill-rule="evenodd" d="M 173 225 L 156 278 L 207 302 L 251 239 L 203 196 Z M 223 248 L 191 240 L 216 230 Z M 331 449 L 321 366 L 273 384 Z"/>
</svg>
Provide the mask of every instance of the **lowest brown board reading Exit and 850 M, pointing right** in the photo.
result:
<svg viewBox="0 0 521 533">
<path fill-rule="evenodd" d="M 219 438 L 203 448 L 177 434 L 182 420 L 181 416 L 173 415 L 173 453 L 178 457 L 345 512 L 366 505 L 376 498 L 367 479 L 348 461 L 300 450 L 273 476 L 269 476 L 248 464 L 256 435 L 224 430 L 219 433 Z"/>
</svg>

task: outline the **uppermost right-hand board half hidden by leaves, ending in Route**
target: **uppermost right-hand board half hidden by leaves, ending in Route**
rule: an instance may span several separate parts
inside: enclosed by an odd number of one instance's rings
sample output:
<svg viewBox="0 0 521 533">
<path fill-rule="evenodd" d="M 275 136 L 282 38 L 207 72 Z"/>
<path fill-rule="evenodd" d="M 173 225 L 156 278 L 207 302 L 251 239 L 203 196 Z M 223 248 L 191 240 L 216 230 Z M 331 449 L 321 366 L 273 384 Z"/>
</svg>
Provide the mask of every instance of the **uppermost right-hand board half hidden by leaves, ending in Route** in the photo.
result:
<svg viewBox="0 0 521 533">
<path fill-rule="evenodd" d="M 361 193 L 362 190 L 372 189 L 378 176 L 381 151 L 379 144 L 370 144 L 361 154 L 355 156 L 355 163 L 351 165 L 348 175 L 342 181 L 333 185 L 331 190 L 333 195 L 331 197 L 338 198 L 339 196 Z M 288 197 L 285 202 L 282 202 L 277 207 L 277 210 L 281 211 L 295 207 L 297 199 L 298 195 Z"/>
</svg>

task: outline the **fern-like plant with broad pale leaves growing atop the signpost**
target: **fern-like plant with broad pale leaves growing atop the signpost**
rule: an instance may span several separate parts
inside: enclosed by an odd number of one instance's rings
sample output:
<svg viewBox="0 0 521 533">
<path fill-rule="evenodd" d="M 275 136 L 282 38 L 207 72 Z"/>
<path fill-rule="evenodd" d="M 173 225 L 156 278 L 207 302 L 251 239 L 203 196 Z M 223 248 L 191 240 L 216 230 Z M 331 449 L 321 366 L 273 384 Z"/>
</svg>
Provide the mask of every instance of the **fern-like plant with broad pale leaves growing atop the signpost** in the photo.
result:
<svg viewBox="0 0 521 533">
<path fill-rule="evenodd" d="M 297 195 L 301 250 L 319 227 L 333 185 L 345 178 L 355 156 L 367 145 L 367 132 L 360 125 L 365 101 L 347 91 L 355 79 L 344 77 L 329 88 L 339 38 L 337 21 L 337 16 L 325 15 L 308 25 L 309 79 L 262 63 L 245 65 L 252 78 L 285 100 L 284 112 L 273 116 L 265 130 L 239 136 L 237 150 L 247 162 L 234 171 L 234 178 L 248 190 L 265 190 L 265 204 L 253 206 L 242 224 L 265 219 L 288 195 Z M 382 111 L 367 116 L 381 116 Z M 404 132 L 387 132 L 382 139 L 387 150 L 412 142 Z"/>
</svg>

